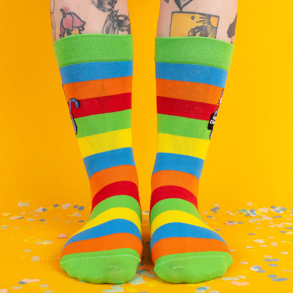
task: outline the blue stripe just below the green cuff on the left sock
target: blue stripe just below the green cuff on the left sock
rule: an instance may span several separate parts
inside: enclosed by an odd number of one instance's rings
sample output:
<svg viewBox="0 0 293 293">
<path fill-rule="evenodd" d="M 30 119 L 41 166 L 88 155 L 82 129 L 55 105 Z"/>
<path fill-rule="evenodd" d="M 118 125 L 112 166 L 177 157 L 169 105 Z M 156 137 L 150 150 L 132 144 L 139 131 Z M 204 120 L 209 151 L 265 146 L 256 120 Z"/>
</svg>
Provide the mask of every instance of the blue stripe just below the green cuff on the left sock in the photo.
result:
<svg viewBox="0 0 293 293">
<path fill-rule="evenodd" d="M 60 68 L 62 84 L 132 76 L 132 61 L 88 62 Z"/>
</svg>

